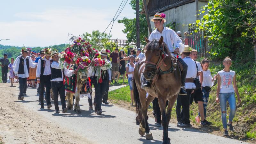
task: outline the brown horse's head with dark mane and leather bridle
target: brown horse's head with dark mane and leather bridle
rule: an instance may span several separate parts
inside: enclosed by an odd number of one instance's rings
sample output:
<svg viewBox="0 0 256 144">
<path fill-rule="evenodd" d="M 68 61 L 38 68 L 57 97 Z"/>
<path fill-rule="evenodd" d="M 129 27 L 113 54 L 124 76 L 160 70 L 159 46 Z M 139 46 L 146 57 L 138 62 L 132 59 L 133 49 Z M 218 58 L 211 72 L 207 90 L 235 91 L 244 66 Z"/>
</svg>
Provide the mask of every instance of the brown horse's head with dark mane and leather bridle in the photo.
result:
<svg viewBox="0 0 256 144">
<path fill-rule="evenodd" d="M 143 75 L 146 80 L 153 80 L 154 76 L 158 74 L 160 66 L 164 65 L 164 58 L 170 55 L 170 52 L 162 36 L 160 40 L 149 41 L 147 38 L 145 40 L 147 45 L 144 49 L 146 62 Z"/>
</svg>

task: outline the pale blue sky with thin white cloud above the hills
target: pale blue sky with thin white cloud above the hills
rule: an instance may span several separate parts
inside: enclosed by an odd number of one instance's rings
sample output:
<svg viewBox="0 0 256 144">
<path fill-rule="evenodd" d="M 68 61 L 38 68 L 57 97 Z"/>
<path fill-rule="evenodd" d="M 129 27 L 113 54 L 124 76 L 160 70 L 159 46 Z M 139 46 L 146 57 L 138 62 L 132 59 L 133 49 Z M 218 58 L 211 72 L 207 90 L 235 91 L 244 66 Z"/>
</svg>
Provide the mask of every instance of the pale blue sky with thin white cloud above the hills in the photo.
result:
<svg viewBox="0 0 256 144">
<path fill-rule="evenodd" d="M 125 1 L 125 0 L 124 0 Z M 68 43 L 68 35 L 103 32 L 122 0 L 5 0 L 0 2 L 0 44 L 47 47 Z M 118 19 L 135 18 L 128 0 L 116 19 L 111 39 L 127 39 Z M 109 33 L 110 27 L 106 30 Z"/>
</svg>

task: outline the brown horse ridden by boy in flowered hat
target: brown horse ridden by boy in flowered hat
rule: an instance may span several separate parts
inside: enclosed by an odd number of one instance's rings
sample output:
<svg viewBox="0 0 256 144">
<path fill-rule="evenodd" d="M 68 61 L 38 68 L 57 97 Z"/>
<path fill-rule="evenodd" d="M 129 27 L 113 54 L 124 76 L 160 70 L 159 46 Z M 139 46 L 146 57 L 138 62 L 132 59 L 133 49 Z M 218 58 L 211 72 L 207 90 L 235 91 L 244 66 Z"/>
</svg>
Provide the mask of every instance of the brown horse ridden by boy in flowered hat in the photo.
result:
<svg viewBox="0 0 256 144">
<path fill-rule="evenodd" d="M 180 70 L 175 63 L 175 57 L 171 55 L 167 45 L 163 42 L 162 36 L 159 41 L 145 39 L 147 41 L 147 45 L 144 48 L 146 58 L 136 64 L 133 80 L 136 111 L 138 116 L 142 115 L 143 117 L 139 134 L 143 136 L 146 132 L 146 139 L 153 140 L 152 133 L 150 133 L 148 127 L 147 113 L 149 104 L 157 97 L 162 114 L 163 143 L 169 144 L 168 125 L 171 119 L 172 106 L 180 92 Z M 141 88 L 141 74 L 144 75 L 146 80 L 152 81 L 151 89 L 144 90 Z M 146 97 L 147 92 L 148 97 Z M 165 112 L 166 100 L 168 100 L 167 112 Z"/>
</svg>

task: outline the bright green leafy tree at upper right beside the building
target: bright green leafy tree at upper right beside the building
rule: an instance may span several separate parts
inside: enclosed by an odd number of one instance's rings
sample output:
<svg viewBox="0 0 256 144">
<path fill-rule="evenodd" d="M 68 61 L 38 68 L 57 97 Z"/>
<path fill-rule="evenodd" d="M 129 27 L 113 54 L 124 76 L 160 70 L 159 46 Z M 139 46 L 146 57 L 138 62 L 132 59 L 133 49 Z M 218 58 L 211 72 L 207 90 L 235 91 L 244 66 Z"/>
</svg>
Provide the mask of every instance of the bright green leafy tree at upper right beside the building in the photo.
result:
<svg viewBox="0 0 256 144">
<path fill-rule="evenodd" d="M 231 56 L 241 61 L 246 60 L 245 57 L 254 57 L 255 4 L 255 0 L 209 0 L 208 5 L 200 10 L 200 14 L 208 13 L 196 21 L 195 32 L 205 32 L 212 45 L 210 53 L 213 57 Z"/>
</svg>

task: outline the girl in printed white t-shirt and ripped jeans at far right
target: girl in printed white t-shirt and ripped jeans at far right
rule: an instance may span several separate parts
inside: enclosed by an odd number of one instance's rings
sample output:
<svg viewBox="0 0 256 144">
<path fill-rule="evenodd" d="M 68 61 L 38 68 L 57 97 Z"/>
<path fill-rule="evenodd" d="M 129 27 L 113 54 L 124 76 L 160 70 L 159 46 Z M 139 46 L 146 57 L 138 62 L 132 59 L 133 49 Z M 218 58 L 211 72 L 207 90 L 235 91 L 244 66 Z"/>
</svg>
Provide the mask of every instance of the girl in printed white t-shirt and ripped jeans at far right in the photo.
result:
<svg viewBox="0 0 256 144">
<path fill-rule="evenodd" d="M 229 130 L 233 131 L 232 120 L 236 112 L 236 97 L 238 104 L 241 103 L 240 96 L 236 86 L 236 72 L 230 70 L 232 61 L 229 57 L 226 57 L 223 61 L 225 68 L 218 72 L 218 88 L 216 102 L 220 102 L 221 108 L 221 120 L 224 128 L 224 136 L 228 136 L 227 125 Z M 233 84 L 232 84 L 233 83 Z M 229 120 L 227 124 L 227 101 L 230 105 Z"/>
</svg>

